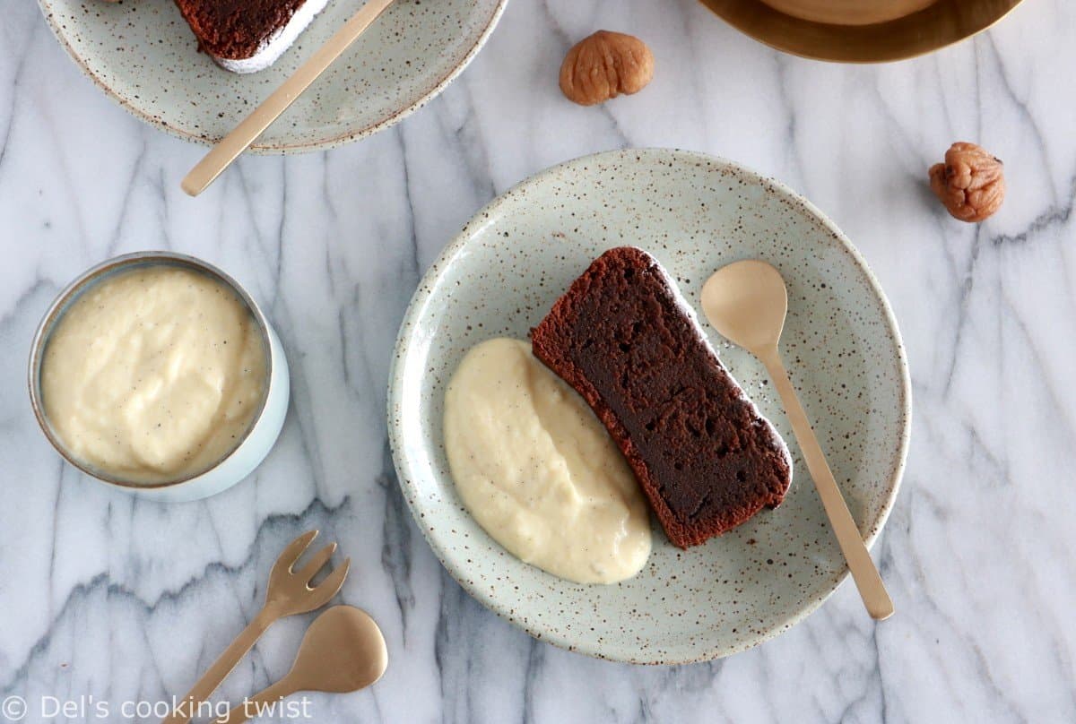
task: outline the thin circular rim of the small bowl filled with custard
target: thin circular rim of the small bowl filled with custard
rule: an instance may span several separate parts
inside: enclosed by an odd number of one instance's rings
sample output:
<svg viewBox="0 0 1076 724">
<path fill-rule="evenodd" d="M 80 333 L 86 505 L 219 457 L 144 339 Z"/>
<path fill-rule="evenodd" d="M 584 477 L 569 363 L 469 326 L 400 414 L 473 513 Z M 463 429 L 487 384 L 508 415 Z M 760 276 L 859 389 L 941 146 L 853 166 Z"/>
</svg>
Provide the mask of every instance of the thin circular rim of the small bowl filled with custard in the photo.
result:
<svg viewBox="0 0 1076 724">
<path fill-rule="evenodd" d="M 63 445 L 63 441 L 60 440 L 53 430 L 53 427 L 48 422 L 48 417 L 45 414 L 45 406 L 41 396 L 41 365 L 44 361 L 45 347 L 48 345 L 48 338 L 52 335 L 53 329 L 56 327 L 56 324 L 60 321 L 60 318 L 62 318 L 63 313 L 67 312 L 71 303 L 73 303 L 87 289 L 112 276 L 113 274 L 134 267 L 148 266 L 172 266 L 192 269 L 216 280 L 231 289 L 239 300 L 246 307 L 251 316 L 254 317 L 254 321 L 258 326 L 258 331 L 261 335 L 261 344 L 266 355 L 265 389 L 261 393 L 261 399 L 258 401 L 258 411 L 251 418 L 251 424 L 243 432 L 242 437 L 239 438 L 231 450 L 229 450 L 224 456 L 214 462 L 213 465 L 207 469 L 192 475 L 186 475 L 185 478 L 159 483 L 139 483 L 131 480 L 125 480 L 123 478 L 116 478 L 110 475 L 103 470 L 98 470 L 97 468 L 87 465 L 85 462 L 80 460 L 76 456 L 72 455 Z M 179 487 L 184 483 L 196 478 L 200 478 L 210 470 L 216 468 L 231 457 L 236 451 L 238 451 L 243 443 L 246 442 L 246 439 L 251 436 L 251 432 L 257 426 L 258 421 L 265 413 L 266 403 L 269 401 L 269 386 L 273 373 L 272 357 L 272 345 L 269 338 L 269 323 L 266 321 L 261 310 L 254 302 L 251 296 L 246 294 L 246 289 L 244 289 L 239 282 L 213 265 L 186 254 L 176 254 L 174 252 L 133 252 L 131 254 L 124 254 L 122 256 L 107 259 L 96 267 L 91 267 L 86 270 L 80 274 L 77 279 L 68 284 L 56 297 L 55 301 L 53 301 L 53 303 L 48 307 L 48 311 L 45 312 L 44 317 L 42 317 L 41 324 L 38 325 L 38 330 L 33 335 L 33 342 L 30 345 L 29 373 L 27 380 L 30 387 L 30 406 L 33 408 L 33 416 L 37 417 L 38 425 L 41 426 L 41 431 L 45 434 L 45 437 L 48 439 L 48 442 L 52 443 L 53 448 L 56 449 L 56 452 L 59 453 L 65 460 L 95 480 L 127 489 L 145 491 L 165 487 Z"/>
</svg>

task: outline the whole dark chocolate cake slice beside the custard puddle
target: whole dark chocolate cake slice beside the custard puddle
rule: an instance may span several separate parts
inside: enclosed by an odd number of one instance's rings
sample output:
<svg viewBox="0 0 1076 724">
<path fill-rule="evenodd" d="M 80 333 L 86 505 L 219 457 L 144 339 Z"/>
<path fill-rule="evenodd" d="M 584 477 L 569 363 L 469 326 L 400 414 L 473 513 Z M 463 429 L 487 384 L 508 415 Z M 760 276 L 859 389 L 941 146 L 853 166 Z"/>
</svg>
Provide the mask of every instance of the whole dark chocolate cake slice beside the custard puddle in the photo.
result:
<svg viewBox="0 0 1076 724">
<path fill-rule="evenodd" d="M 642 250 L 598 257 L 532 345 L 608 428 L 674 544 L 698 545 L 784 498 L 784 442 Z"/>
</svg>

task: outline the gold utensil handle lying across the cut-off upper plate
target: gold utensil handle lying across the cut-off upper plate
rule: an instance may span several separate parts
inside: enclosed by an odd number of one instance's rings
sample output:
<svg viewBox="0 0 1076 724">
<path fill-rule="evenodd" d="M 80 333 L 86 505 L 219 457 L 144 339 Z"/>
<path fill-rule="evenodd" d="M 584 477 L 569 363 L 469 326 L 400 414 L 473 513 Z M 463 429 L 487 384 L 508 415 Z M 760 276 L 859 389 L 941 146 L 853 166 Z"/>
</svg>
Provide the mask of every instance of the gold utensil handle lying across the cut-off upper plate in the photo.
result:
<svg viewBox="0 0 1076 724">
<path fill-rule="evenodd" d="M 332 65 L 332 61 L 358 40 L 381 13 L 393 4 L 394 0 L 367 0 L 351 19 L 343 24 L 324 45 L 310 56 L 310 59 L 299 66 L 291 77 L 261 101 L 261 104 L 251 111 L 243 120 L 235 127 L 221 142 L 213 146 L 198 165 L 190 169 L 180 186 L 190 196 L 198 196 L 213 183 L 221 172 L 231 166 L 239 154 L 246 151 L 254 141 L 265 132 L 266 128 L 281 113 L 295 102 L 295 99 L 310 87 L 322 73 Z"/>
</svg>

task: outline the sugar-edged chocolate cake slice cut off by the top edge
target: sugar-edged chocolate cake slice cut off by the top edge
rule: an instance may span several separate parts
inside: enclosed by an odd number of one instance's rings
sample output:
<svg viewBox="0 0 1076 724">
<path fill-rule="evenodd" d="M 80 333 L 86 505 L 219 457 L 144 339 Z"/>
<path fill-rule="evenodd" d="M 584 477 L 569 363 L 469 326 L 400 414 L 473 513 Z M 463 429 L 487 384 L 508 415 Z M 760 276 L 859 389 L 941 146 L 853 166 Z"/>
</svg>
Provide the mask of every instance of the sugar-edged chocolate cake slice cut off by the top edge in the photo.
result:
<svg viewBox="0 0 1076 724">
<path fill-rule="evenodd" d="M 327 0 L 175 0 L 198 47 L 222 68 L 253 73 L 291 47 Z"/>
</svg>

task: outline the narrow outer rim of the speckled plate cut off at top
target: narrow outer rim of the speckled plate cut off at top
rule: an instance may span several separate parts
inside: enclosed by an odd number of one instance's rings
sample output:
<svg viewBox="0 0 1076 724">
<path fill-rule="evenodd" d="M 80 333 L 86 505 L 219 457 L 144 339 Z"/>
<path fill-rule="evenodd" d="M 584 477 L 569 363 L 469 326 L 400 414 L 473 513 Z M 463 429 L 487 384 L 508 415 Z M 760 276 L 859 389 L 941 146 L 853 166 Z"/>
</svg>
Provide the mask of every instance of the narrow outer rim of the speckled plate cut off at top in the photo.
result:
<svg viewBox="0 0 1076 724">
<path fill-rule="evenodd" d="M 162 131 L 167 132 L 170 136 L 174 136 L 175 138 L 183 139 L 184 141 L 192 141 L 194 143 L 200 143 L 202 145 L 214 145 L 217 141 L 220 141 L 220 139 L 207 138 L 202 133 L 196 133 L 186 130 L 185 128 L 180 128 L 178 126 L 172 126 L 168 123 L 165 123 L 165 120 L 159 116 L 146 112 L 142 108 L 136 105 L 130 99 L 125 98 L 124 96 L 119 95 L 119 93 L 116 91 L 114 88 L 109 86 L 109 84 L 107 84 L 97 73 L 94 72 L 94 70 L 89 67 L 89 65 L 85 61 L 85 59 L 83 59 L 77 53 L 75 53 L 74 47 L 71 45 L 70 42 L 68 42 L 67 37 L 63 34 L 61 28 L 56 23 L 56 18 L 53 15 L 52 2 L 53 0 L 38 0 L 38 4 L 41 6 L 41 12 L 45 16 L 45 19 L 48 22 L 48 27 L 52 28 L 53 34 L 60 42 L 60 45 L 63 46 L 63 49 L 67 51 L 67 54 L 71 57 L 71 59 L 75 62 L 75 65 L 79 66 L 79 69 L 82 71 L 82 73 L 87 77 L 89 77 L 89 80 L 91 80 L 98 88 L 103 90 L 109 98 L 118 103 L 124 110 L 126 110 L 128 113 L 139 118 L 140 120 L 143 120 L 150 124 L 151 126 L 156 126 L 157 128 L 161 129 Z M 482 46 L 484 46 L 485 42 L 490 39 L 490 36 L 497 27 L 497 23 L 500 20 L 500 16 L 504 14 L 505 8 L 507 5 L 508 5 L 508 0 L 500 0 L 497 3 L 497 8 L 490 16 L 490 22 L 486 24 L 484 28 L 482 28 L 482 31 L 479 33 L 479 37 L 476 40 L 475 45 L 471 46 L 471 48 L 464 55 L 464 57 L 452 70 L 450 70 L 436 83 L 430 85 L 429 88 L 413 103 L 399 109 L 392 115 L 374 124 L 365 126 L 357 130 L 345 131 L 343 133 L 338 133 L 337 136 L 327 136 L 325 138 L 317 138 L 309 141 L 297 141 L 295 143 L 253 143 L 251 144 L 250 151 L 252 153 L 266 154 L 266 155 L 272 155 L 272 154 L 288 155 L 288 154 L 301 154 L 310 151 L 328 151 L 329 148 L 336 148 L 337 146 L 341 146 L 345 143 L 351 143 L 352 141 L 358 141 L 360 139 L 373 136 L 378 131 L 384 130 L 391 126 L 396 125 L 397 123 L 399 123 L 404 118 L 407 118 L 409 115 L 411 115 L 412 113 L 421 109 L 423 105 L 428 103 L 430 100 L 436 98 L 442 90 L 444 90 L 445 87 L 448 87 L 450 83 L 452 83 L 452 81 L 456 79 L 456 76 L 458 76 L 462 72 L 464 72 L 467 66 L 470 65 L 470 61 L 475 59 L 475 56 L 478 55 L 478 52 L 482 49 Z M 227 73 L 229 71 L 222 69 L 221 72 Z M 237 124 L 239 123 L 239 120 L 240 118 L 236 118 Z"/>
</svg>

